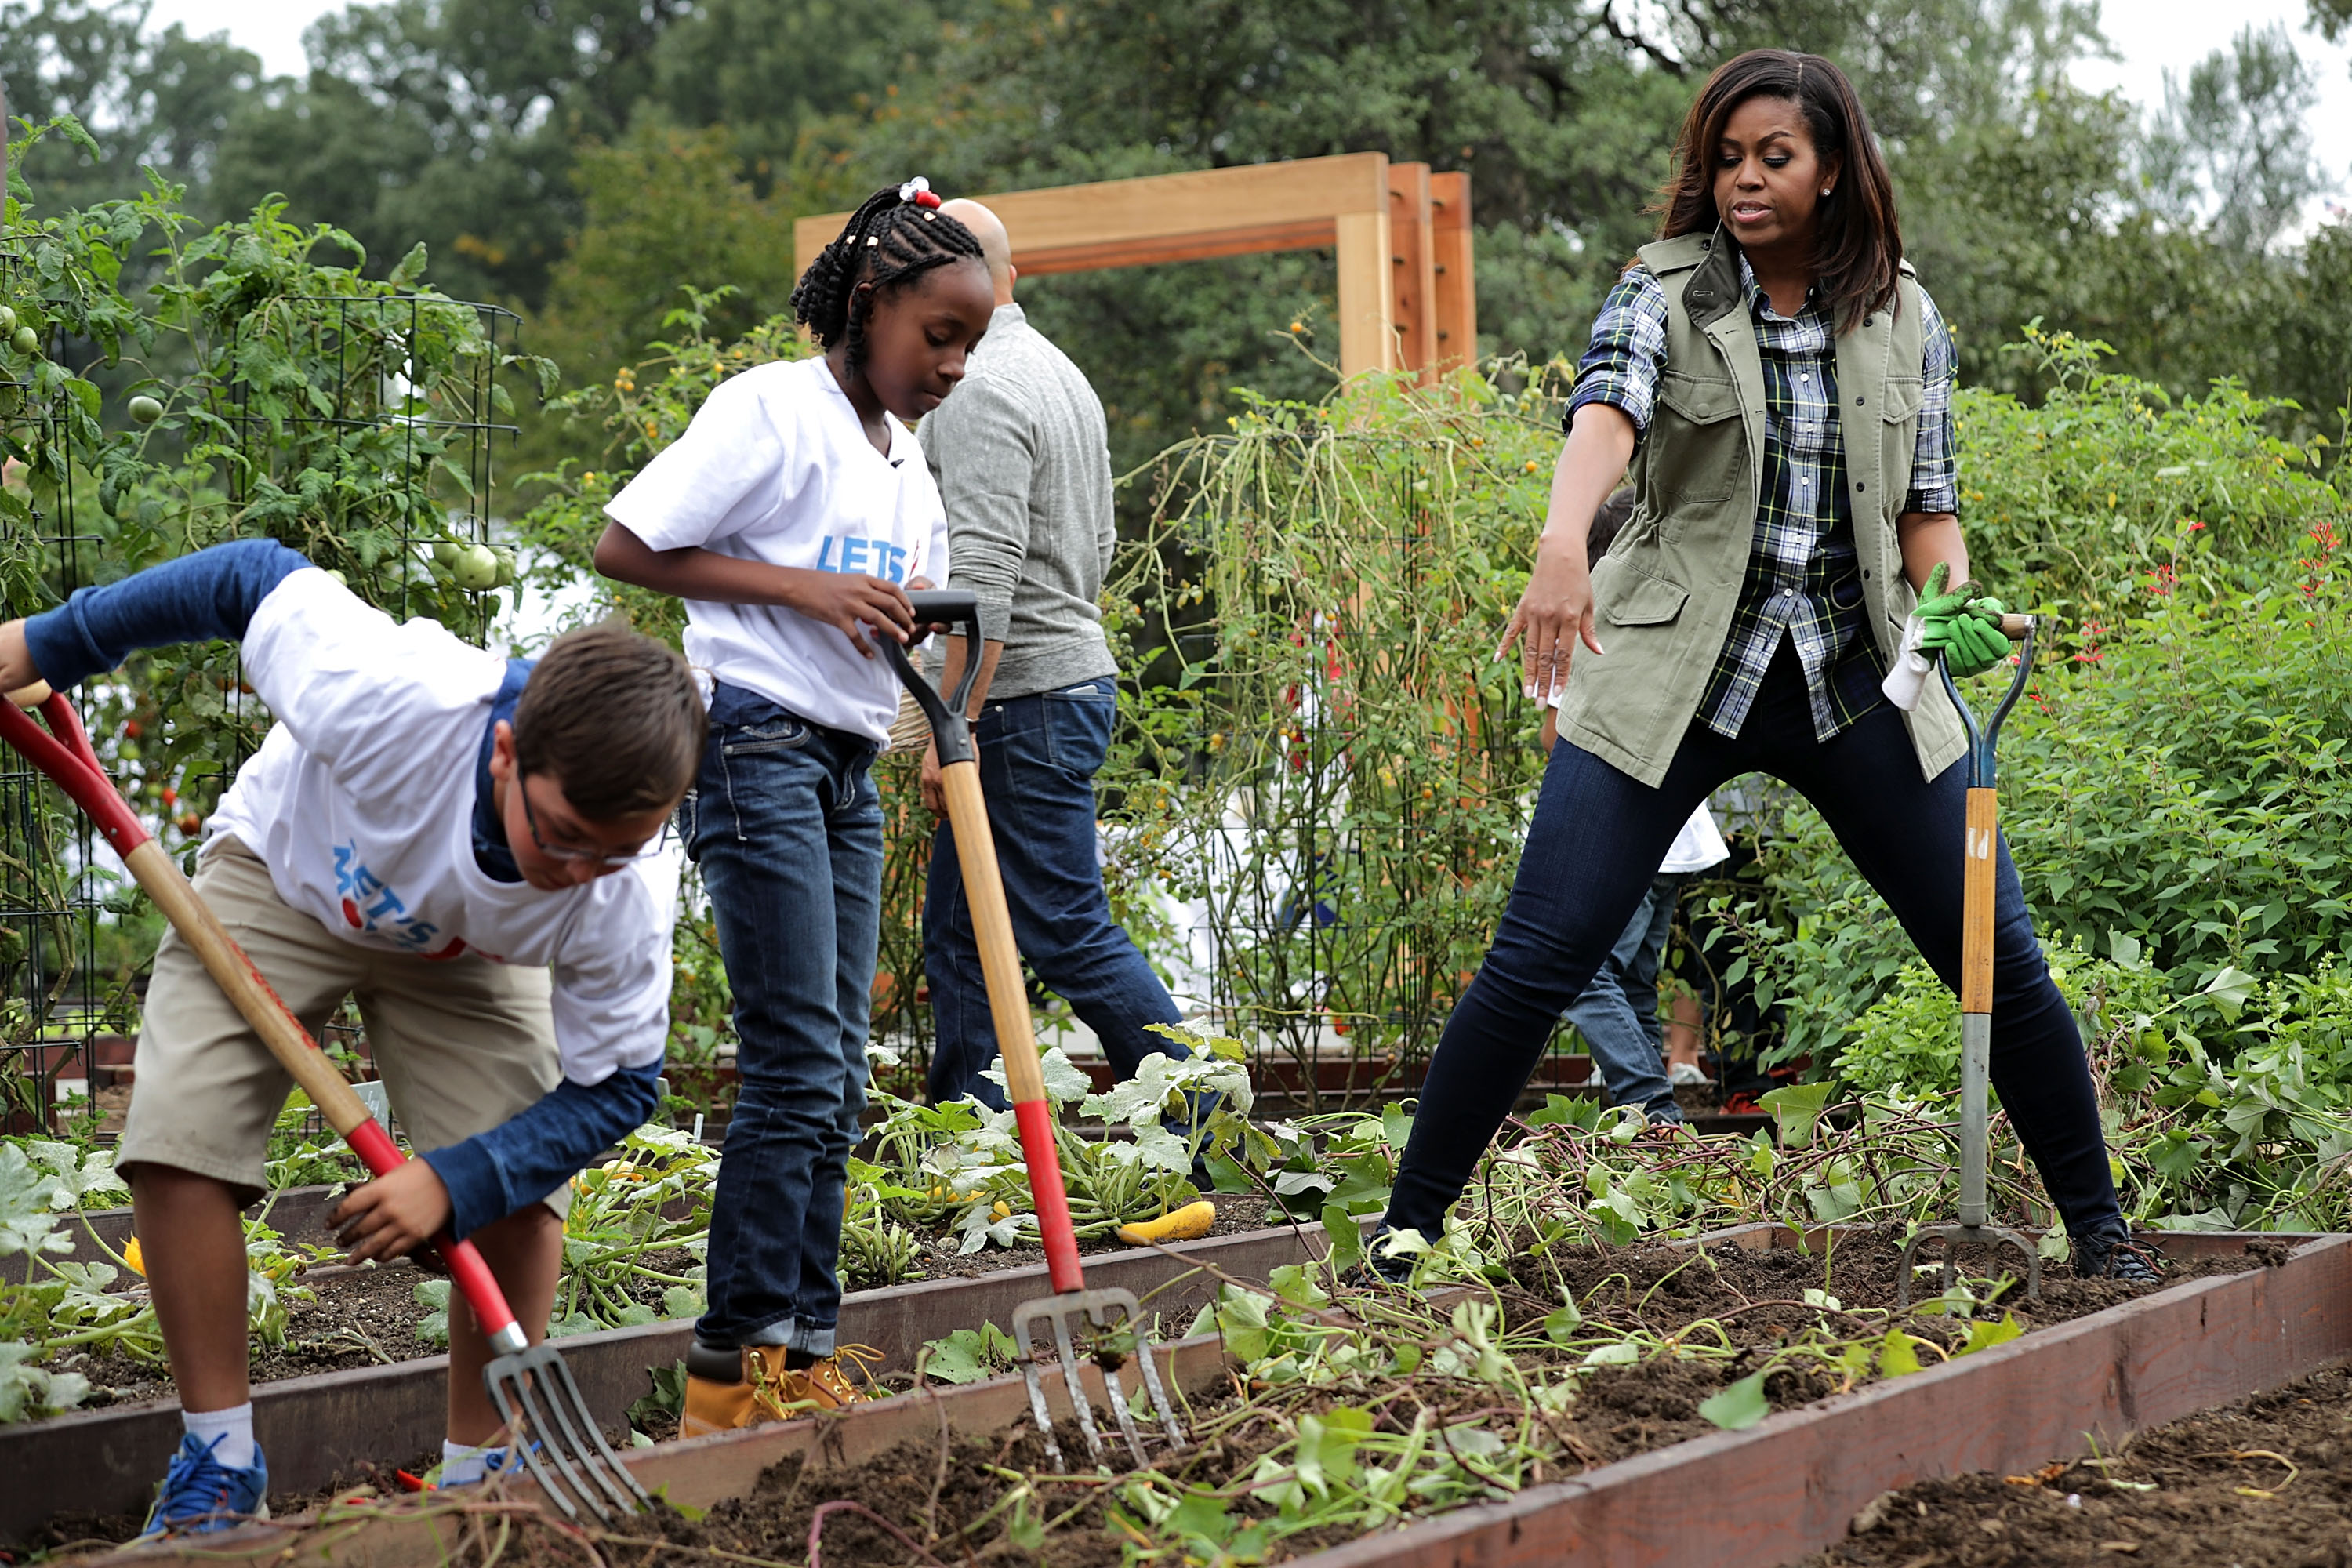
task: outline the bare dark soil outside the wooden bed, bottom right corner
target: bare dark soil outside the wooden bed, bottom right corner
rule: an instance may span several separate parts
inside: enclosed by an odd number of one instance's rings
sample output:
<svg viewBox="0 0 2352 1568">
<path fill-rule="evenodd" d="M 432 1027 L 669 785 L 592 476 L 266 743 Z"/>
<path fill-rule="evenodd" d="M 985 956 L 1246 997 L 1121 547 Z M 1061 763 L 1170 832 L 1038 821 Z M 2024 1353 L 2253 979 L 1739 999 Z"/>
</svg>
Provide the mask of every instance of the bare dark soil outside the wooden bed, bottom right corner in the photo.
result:
<svg viewBox="0 0 2352 1568">
<path fill-rule="evenodd" d="M 1872 1509 L 1806 1568 L 2345 1568 L 2352 1368 L 2140 1432 L 2105 1465 L 1922 1481 Z"/>
</svg>

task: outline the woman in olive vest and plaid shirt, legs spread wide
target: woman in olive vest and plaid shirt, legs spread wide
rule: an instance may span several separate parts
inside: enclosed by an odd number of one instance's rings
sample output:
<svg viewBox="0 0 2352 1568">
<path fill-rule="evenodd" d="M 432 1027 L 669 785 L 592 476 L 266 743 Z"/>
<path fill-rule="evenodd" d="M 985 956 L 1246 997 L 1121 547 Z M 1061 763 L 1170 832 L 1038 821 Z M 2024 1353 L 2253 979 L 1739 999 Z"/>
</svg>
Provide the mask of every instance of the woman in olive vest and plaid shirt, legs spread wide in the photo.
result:
<svg viewBox="0 0 2352 1568">
<path fill-rule="evenodd" d="M 1903 261 L 1853 87 L 1820 56 L 1722 66 L 1682 125 L 1665 197 L 1658 242 L 1609 294 L 1578 367 L 1534 578 L 1503 635 L 1522 644 L 1529 696 L 1557 701 L 1559 745 L 1397 1171 L 1385 1222 L 1428 1239 L 1675 830 L 1740 773 L 1804 792 L 1936 973 L 1959 976 L 1966 738 L 1938 693 L 1903 712 L 1879 689 L 1905 637 L 1945 646 L 1955 672 L 2006 649 L 1973 590 L 1933 599 L 1931 623 L 1917 614 L 1938 564 L 1969 576 L 1952 336 Z M 1628 465 L 1635 517 L 1588 564 L 1592 510 Z M 2117 1211 L 2082 1037 L 2006 849 L 1992 1084 L 2074 1269 L 2154 1279 Z"/>
</svg>

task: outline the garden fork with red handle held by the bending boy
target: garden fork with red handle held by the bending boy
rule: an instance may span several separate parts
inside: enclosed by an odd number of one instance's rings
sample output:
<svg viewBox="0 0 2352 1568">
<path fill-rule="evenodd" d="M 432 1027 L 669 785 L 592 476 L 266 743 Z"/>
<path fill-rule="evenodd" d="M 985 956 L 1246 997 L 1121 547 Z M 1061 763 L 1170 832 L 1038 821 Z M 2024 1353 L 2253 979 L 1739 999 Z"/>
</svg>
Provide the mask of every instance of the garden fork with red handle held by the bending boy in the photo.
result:
<svg viewBox="0 0 2352 1568">
<path fill-rule="evenodd" d="M 21 708 L 40 708 L 49 726 L 42 729 Z M 26 762 L 47 773 L 73 802 L 89 813 L 106 842 L 115 846 L 139 886 L 148 891 L 155 907 L 165 912 L 179 938 L 188 943 L 205 969 L 219 980 L 228 999 L 245 1013 L 245 1023 L 270 1048 L 270 1056 L 294 1077 L 320 1114 L 343 1135 L 350 1152 L 367 1161 L 376 1175 L 386 1175 L 402 1164 L 400 1147 L 376 1126 L 367 1105 L 353 1093 L 343 1074 L 318 1048 L 318 1041 L 294 1020 L 287 1004 L 278 999 L 270 983 L 261 978 L 254 961 L 245 957 L 228 929 L 214 917 L 179 863 L 139 823 L 132 809 L 115 792 L 99 757 L 89 750 L 89 736 L 80 717 L 61 693 L 47 684 L 26 686 L 0 703 L 0 741 L 7 741 Z M 475 1251 L 473 1241 L 437 1237 L 433 1246 L 466 1293 L 475 1321 L 489 1338 L 496 1359 L 482 1368 L 489 1399 L 506 1422 L 508 1441 L 522 1448 L 532 1467 L 532 1479 L 572 1519 L 586 1502 L 597 1519 L 612 1519 L 609 1500 L 621 1512 L 633 1512 L 649 1502 L 637 1479 L 628 1474 L 619 1455 L 604 1441 L 604 1432 L 588 1413 L 572 1371 L 555 1354 L 553 1345 L 536 1349 L 506 1305 L 496 1276 Z M 543 1453 L 541 1453 L 543 1450 Z M 553 1469 L 550 1462 L 553 1460 Z M 557 1483 L 557 1474 L 562 1481 Z M 586 1479 L 583 1479 L 586 1476 Z M 590 1488 L 588 1481 L 595 1481 Z M 602 1493 L 602 1497 L 597 1495 Z M 574 1497 L 579 1502 L 574 1502 Z"/>
</svg>

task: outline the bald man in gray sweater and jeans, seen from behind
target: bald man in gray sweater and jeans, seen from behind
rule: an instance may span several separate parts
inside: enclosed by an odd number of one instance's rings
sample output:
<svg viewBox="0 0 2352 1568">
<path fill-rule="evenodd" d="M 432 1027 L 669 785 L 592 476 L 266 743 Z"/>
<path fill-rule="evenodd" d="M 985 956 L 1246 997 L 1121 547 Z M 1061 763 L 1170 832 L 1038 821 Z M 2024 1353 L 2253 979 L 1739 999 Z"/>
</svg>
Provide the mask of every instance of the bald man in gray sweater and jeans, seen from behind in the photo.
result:
<svg viewBox="0 0 2352 1568">
<path fill-rule="evenodd" d="M 1148 1053 L 1185 1056 L 1143 1025 L 1181 1013 L 1127 931 L 1110 919 L 1094 839 L 1094 773 L 1120 717 L 1117 665 L 1096 599 L 1117 543 L 1103 402 L 1014 303 L 1004 223 L 948 202 L 981 242 L 997 310 L 962 386 L 922 421 L 922 451 L 948 508 L 948 583 L 981 602 L 971 738 L 1004 872 L 1014 940 L 1054 994 L 1103 1041 L 1117 1074 Z M 962 672 L 948 642 L 943 682 Z M 981 1077 L 997 1056 L 981 952 L 971 936 L 955 832 L 938 795 L 938 750 L 922 797 L 941 816 L 922 907 L 922 966 L 938 1039 L 931 1103 L 1004 1091 Z"/>
</svg>

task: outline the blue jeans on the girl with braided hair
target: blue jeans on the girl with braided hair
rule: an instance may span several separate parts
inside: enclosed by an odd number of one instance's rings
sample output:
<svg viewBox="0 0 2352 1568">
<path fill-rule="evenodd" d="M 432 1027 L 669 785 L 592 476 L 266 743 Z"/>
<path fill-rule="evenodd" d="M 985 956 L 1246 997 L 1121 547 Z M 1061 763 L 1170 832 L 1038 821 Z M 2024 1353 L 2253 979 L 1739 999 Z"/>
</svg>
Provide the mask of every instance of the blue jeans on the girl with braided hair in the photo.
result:
<svg viewBox="0 0 2352 1568">
<path fill-rule="evenodd" d="M 682 809 L 734 987 L 741 1086 L 710 1208 L 703 1345 L 833 1354 L 882 912 L 870 741 L 734 686 Z"/>
</svg>

